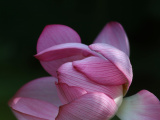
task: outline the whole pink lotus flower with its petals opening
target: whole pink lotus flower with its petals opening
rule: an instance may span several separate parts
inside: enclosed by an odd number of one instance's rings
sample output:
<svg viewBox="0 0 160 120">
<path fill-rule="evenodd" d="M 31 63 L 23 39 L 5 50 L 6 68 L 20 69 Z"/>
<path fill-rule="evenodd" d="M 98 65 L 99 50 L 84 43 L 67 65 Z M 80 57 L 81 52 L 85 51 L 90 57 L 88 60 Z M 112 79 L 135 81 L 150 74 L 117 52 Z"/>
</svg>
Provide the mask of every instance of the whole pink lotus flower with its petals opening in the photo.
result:
<svg viewBox="0 0 160 120">
<path fill-rule="evenodd" d="M 48 25 L 35 57 L 51 77 L 24 85 L 9 106 L 19 120 L 158 120 L 160 102 L 147 90 L 126 97 L 132 82 L 123 27 L 108 23 L 94 43 L 81 44 L 64 25 Z"/>
</svg>

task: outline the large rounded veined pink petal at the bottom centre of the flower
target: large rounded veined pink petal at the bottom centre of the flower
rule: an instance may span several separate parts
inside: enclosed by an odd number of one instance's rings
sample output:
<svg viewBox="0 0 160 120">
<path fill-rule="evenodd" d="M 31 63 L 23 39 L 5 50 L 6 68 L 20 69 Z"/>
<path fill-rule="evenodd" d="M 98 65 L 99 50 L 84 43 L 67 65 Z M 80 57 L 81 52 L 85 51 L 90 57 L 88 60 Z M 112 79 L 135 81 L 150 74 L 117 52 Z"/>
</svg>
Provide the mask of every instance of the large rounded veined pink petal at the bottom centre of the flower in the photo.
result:
<svg viewBox="0 0 160 120">
<path fill-rule="evenodd" d="M 117 111 L 104 93 L 88 93 L 59 109 L 56 120 L 109 120 Z"/>
</svg>

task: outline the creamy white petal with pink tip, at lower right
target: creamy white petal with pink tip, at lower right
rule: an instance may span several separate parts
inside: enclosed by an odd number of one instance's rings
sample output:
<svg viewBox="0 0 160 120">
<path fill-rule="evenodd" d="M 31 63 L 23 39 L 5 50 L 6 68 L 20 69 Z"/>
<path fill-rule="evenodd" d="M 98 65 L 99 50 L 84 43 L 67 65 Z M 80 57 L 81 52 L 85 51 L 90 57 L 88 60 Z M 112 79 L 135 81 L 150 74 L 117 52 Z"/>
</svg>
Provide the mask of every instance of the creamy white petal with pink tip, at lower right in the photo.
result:
<svg viewBox="0 0 160 120">
<path fill-rule="evenodd" d="M 142 90 L 124 98 L 117 116 L 122 120 L 159 120 L 159 113 L 160 101 L 154 94 Z"/>
</svg>

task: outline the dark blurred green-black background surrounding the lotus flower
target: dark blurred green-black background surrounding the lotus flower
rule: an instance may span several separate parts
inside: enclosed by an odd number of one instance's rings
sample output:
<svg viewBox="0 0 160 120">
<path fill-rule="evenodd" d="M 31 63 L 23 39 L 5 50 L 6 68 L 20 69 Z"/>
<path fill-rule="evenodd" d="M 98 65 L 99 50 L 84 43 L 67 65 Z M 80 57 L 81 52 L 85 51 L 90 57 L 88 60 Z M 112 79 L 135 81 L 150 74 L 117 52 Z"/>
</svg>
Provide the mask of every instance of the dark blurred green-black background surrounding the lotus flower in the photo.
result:
<svg viewBox="0 0 160 120">
<path fill-rule="evenodd" d="M 130 41 L 134 78 L 127 96 L 147 89 L 160 99 L 159 0 L 0 0 L 0 120 L 16 120 L 8 100 L 48 75 L 33 57 L 45 25 L 68 25 L 91 44 L 110 21 L 120 22 Z"/>
</svg>

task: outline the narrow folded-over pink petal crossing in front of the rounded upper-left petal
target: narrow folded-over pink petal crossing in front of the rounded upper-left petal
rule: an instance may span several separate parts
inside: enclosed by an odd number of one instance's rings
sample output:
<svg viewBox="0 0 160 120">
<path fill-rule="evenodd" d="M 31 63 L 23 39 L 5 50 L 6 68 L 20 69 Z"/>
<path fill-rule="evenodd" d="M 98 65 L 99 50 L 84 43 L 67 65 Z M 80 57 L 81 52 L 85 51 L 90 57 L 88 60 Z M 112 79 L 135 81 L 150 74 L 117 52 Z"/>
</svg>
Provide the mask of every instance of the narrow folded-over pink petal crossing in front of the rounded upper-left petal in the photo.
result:
<svg viewBox="0 0 160 120">
<path fill-rule="evenodd" d="M 35 55 L 40 61 L 51 61 L 71 57 L 75 55 L 82 55 L 84 57 L 93 55 L 93 52 L 87 45 L 81 43 L 66 43 L 52 46 Z"/>
</svg>

